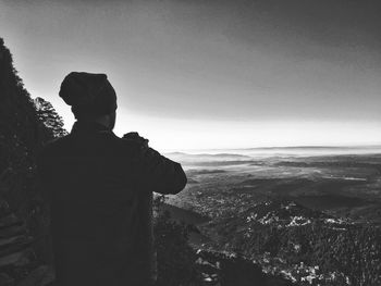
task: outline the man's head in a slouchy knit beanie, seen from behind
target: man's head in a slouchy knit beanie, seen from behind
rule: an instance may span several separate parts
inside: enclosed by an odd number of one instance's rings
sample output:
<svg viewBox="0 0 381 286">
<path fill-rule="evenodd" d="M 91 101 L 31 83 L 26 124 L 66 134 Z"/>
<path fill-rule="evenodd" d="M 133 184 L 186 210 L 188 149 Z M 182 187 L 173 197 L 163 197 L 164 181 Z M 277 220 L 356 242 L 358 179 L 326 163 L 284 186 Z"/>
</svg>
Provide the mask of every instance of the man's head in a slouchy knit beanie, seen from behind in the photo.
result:
<svg viewBox="0 0 381 286">
<path fill-rule="evenodd" d="M 63 79 L 59 95 L 72 107 L 76 120 L 114 127 L 116 94 L 106 74 L 72 72 Z"/>
</svg>

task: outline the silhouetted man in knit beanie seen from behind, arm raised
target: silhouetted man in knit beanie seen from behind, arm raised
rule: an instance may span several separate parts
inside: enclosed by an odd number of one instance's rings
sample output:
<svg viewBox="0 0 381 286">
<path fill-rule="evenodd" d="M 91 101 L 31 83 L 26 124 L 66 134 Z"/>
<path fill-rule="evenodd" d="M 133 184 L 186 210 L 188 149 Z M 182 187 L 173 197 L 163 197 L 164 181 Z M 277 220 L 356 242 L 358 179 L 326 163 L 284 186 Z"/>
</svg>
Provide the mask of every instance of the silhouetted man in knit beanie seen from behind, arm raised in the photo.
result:
<svg viewBox="0 0 381 286">
<path fill-rule="evenodd" d="M 59 95 L 77 121 L 38 166 L 58 285 L 151 285 L 152 191 L 177 194 L 184 171 L 137 134 L 112 133 L 116 95 L 105 74 L 70 73 Z"/>
</svg>

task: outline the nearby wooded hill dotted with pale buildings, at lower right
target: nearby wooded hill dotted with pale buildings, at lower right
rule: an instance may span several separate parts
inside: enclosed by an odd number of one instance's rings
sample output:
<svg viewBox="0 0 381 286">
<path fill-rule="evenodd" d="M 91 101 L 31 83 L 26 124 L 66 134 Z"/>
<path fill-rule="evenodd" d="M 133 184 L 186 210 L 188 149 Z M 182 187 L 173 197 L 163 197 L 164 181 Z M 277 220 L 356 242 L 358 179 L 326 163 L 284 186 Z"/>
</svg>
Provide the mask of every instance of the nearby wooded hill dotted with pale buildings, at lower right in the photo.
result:
<svg viewBox="0 0 381 286">
<path fill-rule="evenodd" d="M 238 250 L 300 285 L 381 283 L 381 228 L 374 224 L 267 200 L 204 227 L 219 249 Z"/>
</svg>

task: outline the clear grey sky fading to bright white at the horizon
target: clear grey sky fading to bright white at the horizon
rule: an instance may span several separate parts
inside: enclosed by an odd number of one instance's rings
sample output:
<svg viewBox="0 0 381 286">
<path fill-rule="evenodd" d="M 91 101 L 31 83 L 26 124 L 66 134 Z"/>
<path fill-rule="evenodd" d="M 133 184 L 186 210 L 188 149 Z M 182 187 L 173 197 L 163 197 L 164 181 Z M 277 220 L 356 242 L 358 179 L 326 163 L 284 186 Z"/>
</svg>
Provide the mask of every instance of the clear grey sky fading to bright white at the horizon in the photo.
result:
<svg viewBox="0 0 381 286">
<path fill-rule="evenodd" d="M 106 73 L 115 133 L 158 150 L 381 144 L 381 2 L 0 0 L 33 98 Z"/>
</svg>

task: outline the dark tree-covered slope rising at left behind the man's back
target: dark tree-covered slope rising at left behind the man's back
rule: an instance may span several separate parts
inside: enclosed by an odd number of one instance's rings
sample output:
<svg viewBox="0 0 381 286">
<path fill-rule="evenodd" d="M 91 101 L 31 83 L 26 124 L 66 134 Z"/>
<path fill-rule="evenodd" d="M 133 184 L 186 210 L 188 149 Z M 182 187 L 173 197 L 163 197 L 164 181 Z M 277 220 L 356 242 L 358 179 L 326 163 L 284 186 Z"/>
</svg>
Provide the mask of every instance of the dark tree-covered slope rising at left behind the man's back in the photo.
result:
<svg viewBox="0 0 381 286">
<path fill-rule="evenodd" d="M 52 105 L 30 98 L 0 38 L 0 285 L 49 272 L 49 214 L 36 159 L 44 144 L 64 134 Z"/>
</svg>

